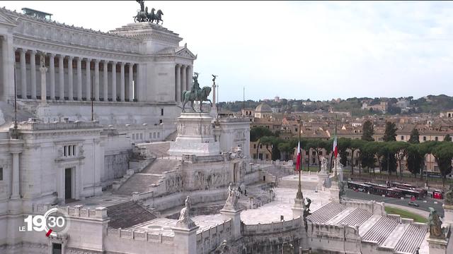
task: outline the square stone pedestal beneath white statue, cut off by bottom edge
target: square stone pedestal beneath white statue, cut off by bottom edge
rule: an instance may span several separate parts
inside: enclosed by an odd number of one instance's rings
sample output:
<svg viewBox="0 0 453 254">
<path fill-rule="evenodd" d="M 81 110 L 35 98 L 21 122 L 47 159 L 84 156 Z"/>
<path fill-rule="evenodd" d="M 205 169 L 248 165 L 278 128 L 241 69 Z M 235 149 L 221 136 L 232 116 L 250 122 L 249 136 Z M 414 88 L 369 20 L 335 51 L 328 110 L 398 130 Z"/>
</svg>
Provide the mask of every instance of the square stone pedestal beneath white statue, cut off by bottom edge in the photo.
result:
<svg viewBox="0 0 453 254">
<path fill-rule="evenodd" d="M 173 253 L 180 254 L 196 254 L 197 253 L 197 229 L 200 226 L 193 226 L 190 229 L 173 227 L 174 251 Z"/>
</svg>

